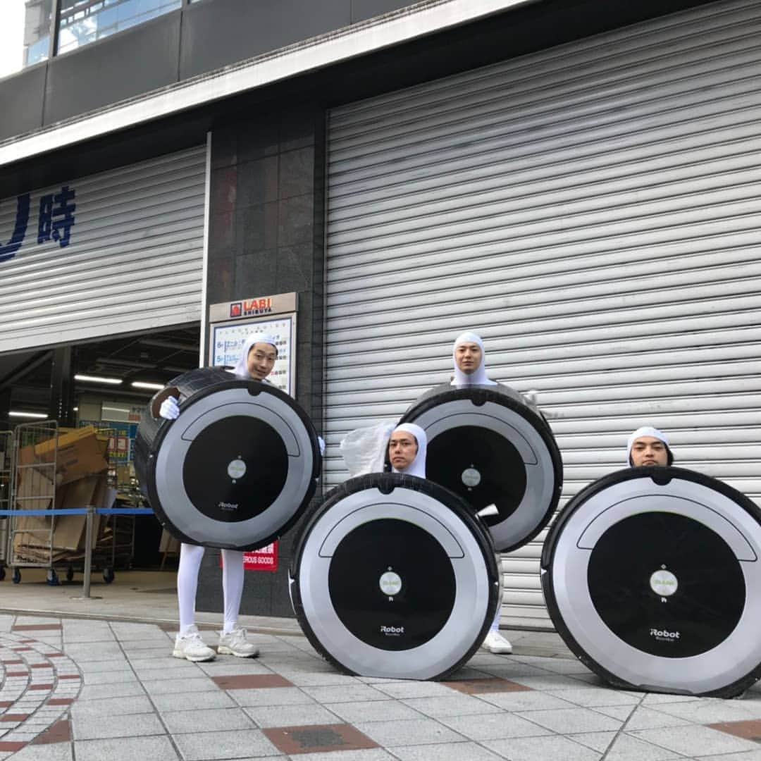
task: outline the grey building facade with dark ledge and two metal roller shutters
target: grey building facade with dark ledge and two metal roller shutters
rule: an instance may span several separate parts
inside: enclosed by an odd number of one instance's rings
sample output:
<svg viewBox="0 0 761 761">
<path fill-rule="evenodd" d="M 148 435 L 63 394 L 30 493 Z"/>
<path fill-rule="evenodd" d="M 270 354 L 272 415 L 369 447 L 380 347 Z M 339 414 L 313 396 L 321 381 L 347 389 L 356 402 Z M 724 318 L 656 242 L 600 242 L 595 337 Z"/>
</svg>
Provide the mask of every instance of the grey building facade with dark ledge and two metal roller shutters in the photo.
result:
<svg viewBox="0 0 761 761">
<path fill-rule="evenodd" d="M 295 292 L 323 489 L 470 328 L 537 392 L 563 501 L 642 423 L 758 497 L 761 7 L 177 0 L 88 27 L 68 5 L 0 80 L 6 412 L 14 358 L 197 326 L 204 361 L 211 304 Z M 503 558 L 510 626 L 550 626 L 543 537 Z M 244 613 L 291 615 L 289 548 Z"/>
</svg>

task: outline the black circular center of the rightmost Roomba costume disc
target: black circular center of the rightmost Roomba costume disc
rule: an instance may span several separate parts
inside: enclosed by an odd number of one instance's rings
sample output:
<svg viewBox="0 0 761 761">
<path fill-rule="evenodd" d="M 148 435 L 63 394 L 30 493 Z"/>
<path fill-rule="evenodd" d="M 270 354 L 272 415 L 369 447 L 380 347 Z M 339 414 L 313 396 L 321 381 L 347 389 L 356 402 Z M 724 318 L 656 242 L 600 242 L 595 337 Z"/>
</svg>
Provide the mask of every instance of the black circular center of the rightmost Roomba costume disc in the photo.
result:
<svg viewBox="0 0 761 761">
<path fill-rule="evenodd" d="M 619 638 L 665 658 L 720 645 L 745 606 L 743 572 L 728 544 L 673 513 L 641 513 L 611 526 L 591 552 L 587 583 Z"/>
</svg>

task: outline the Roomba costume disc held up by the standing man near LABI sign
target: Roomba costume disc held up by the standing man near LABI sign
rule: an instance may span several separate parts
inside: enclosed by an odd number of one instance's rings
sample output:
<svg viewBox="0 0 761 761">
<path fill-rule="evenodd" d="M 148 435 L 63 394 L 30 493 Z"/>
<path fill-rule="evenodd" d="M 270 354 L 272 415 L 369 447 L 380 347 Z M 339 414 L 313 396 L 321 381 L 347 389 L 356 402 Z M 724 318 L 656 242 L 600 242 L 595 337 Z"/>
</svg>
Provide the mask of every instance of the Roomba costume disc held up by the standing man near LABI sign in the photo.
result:
<svg viewBox="0 0 761 761">
<path fill-rule="evenodd" d="M 167 392 L 180 416 L 154 416 Z M 222 368 L 177 376 L 142 413 L 135 473 L 164 527 L 183 542 L 257 549 L 291 527 L 320 475 L 317 433 L 291 396 Z"/>
</svg>

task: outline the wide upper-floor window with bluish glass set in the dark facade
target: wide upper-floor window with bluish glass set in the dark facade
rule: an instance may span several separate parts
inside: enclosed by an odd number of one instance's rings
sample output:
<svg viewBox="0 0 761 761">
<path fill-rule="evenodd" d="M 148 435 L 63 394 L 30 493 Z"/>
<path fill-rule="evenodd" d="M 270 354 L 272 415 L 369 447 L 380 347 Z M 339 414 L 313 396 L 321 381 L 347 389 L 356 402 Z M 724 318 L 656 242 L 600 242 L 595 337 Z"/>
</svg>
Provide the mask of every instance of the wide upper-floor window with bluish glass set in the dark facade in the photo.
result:
<svg viewBox="0 0 761 761">
<path fill-rule="evenodd" d="M 182 0 L 61 0 L 58 53 L 180 8 Z"/>
</svg>

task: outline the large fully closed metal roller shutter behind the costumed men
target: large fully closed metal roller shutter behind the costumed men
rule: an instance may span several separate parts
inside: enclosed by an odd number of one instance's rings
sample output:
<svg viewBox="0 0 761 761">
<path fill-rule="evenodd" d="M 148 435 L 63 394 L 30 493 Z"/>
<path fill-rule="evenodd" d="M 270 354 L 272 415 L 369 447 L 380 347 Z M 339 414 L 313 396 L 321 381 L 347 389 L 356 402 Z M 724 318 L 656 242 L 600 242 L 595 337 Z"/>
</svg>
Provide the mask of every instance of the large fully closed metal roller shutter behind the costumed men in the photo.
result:
<svg viewBox="0 0 761 761">
<path fill-rule="evenodd" d="M 562 504 L 649 422 L 761 493 L 761 5 L 703 6 L 330 114 L 327 479 L 479 330 L 538 392 Z M 540 537 L 543 540 L 544 534 Z M 549 627 L 541 541 L 503 622 Z"/>
</svg>

